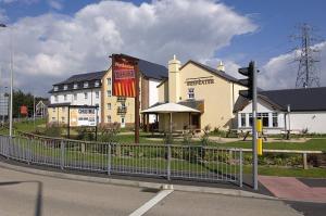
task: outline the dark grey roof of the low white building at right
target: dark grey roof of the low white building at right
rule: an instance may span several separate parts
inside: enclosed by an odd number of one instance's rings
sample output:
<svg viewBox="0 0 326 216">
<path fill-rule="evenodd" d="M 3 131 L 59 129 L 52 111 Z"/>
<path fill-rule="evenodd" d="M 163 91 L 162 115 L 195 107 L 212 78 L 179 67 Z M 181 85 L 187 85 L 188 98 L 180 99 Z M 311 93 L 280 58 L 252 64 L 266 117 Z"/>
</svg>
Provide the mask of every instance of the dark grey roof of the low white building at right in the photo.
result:
<svg viewBox="0 0 326 216">
<path fill-rule="evenodd" d="M 288 105 L 291 112 L 326 111 L 326 87 L 260 91 L 259 97 L 280 111 L 287 111 Z M 242 110 L 246 103 L 249 101 L 239 97 L 234 111 Z"/>
</svg>

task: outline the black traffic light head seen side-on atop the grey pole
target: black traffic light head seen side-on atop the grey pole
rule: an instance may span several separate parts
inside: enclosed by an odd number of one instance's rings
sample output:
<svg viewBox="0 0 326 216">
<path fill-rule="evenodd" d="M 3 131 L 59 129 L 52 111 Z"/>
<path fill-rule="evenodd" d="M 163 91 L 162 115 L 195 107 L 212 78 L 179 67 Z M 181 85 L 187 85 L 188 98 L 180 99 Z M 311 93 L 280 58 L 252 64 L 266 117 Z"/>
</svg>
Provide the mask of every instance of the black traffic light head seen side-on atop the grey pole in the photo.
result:
<svg viewBox="0 0 326 216">
<path fill-rule="evenodd" d="M 247 76 L 247 79 L 240 79 L 239 82 L 246 87 L 248 90 L 240 90 L 239 94 L 251 100 L 253 93 L 253 79 L 255 76 L 254 62 L 250 62 L 248 67 L 239 68 L 238 71 L 241 75 Z"/>
</svg>

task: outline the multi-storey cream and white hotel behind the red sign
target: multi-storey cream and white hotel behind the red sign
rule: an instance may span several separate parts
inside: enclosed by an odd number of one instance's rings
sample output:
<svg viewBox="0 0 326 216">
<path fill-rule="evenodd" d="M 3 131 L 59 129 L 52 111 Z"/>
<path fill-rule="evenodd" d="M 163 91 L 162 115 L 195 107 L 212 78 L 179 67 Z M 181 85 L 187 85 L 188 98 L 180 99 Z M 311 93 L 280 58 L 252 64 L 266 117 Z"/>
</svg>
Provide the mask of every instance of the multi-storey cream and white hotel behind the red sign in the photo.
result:
<svg viewBox="0 0 326 216">
<path fill-rule="evenodd" d="M 140 110 L 145 110 L 159 102 L 156 86 L 167 78 L 167 68 L 139 60 L 139 72 Z M 121 127 L 134 127 L 135 100 L 112 96 L 111 67 L 74 75 L 54 84 L 49 93 L 48 123 L 67 124 L 70 120 L 71 126 L 120 123 Z M 150 116 L 149 122 L 154 122 L 154 116 Z"/>
</svg>

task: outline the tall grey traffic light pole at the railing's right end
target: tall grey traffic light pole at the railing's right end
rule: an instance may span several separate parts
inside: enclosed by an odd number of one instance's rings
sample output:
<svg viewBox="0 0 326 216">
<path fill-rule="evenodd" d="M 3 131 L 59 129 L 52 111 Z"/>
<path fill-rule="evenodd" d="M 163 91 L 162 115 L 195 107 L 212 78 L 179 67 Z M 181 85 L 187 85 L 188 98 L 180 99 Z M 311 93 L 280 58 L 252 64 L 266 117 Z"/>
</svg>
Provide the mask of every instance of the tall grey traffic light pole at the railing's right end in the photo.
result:
<svg viewBox="0 0 326 216">
<path fill-rule="evenodd" d="M 252 176 L 253 189 L 258 190 L 258 147 L 256 147 L 256 68 L 252 62 Z"/>
</svg>

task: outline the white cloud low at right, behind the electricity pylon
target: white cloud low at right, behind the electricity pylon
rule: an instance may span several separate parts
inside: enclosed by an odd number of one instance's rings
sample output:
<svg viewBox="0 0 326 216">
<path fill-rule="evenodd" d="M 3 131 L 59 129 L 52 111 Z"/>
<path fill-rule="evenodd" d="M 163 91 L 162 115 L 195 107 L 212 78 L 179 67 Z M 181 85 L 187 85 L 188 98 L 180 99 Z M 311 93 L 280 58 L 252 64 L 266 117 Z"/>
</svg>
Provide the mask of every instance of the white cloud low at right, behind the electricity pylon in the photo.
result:
<svg viewBox="0 0 326 216">
<path fill-rule="evenodd" d="M 319 72 L 321 86 L 326 86 L 326 42 L 321 42 L 315 46 L 321 50 L 321 60 L 316 67 Z M 293 62 L 296 53 L 281 54 L 271 59 L 261 68 L 261 75 L 259 76 L 259 86 L 264 89 L 288 89 L 296 88 L 298 62 Z"/>
</svg>

